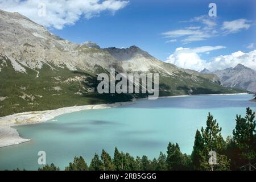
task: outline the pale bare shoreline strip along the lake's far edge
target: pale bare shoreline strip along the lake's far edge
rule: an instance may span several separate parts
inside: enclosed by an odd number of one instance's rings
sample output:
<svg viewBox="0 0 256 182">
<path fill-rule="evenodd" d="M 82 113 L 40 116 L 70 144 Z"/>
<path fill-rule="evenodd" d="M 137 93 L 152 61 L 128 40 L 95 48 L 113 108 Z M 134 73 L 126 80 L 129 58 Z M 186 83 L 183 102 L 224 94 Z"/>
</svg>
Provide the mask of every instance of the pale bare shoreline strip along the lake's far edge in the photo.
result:
<svg viewBox="0 0 256 182">
<path fill-rule="evenodd" d="M 238 93 L 238 94 L 247 94 L 247 93 Z M 220 95 L 238 95 L 238 94 L 208 94 L 208 95 L 220 96 Z M 200 96 L 200 95 L 196 95 L 196 96 Z M 189 97 L 189 95 L 166 96 L 166 97 L 159 97 L 159 98 L 175 98 L 175 97 Z M 144 99 L 147 99 L 147 98 L 141 98 L 138 100 L 144 100 Z M 113 107 L 130 105 L 135 103 L 136 103 L 136 100 L 133 100 L 131 102 L 117 102 L 114 104 L 72 106 L 72 107 L 63 107 L 55 110 L 31 111 L 31 112 L 7 115 L 5 117 L 0 118 L 0 148 L 30 141 L 30 139 L 21 138 L 19 136 L 18 131 L 16 129 L 13 129 L 11 126 L 33 125 L 33 124 L 49 121 L 58 115 L 62 115 L 66 113 L 73 113 L 76 111 L 88 110 L 88 109 L 113 108 Z"/>
</svg>

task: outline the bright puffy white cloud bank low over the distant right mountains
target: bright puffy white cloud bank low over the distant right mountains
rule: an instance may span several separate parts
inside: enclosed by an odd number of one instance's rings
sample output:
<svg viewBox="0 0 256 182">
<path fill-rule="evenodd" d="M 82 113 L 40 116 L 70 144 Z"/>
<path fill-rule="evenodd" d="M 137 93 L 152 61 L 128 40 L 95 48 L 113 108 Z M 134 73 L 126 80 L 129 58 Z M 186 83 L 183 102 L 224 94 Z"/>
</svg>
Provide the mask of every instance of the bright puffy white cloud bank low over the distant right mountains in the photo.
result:
<svg viewBox="0 0 256 182">
<path fill-rule="evenodd" d="M 194 69 L 201 71 L 204 68 L 214 71 L 216 69 L 226 69 L 236 67 L 237 64 L 243 64 L 246 67 L 256 70 L 256 50 L 244 53 L 242 51 L 234 52 L 230 55 L 217 56 L 207 61 L 201 59 L 199 53 L 210 53 L 210 51 L 225 48 L 224 46 L 204 46 L 197 48 L 176 48 L 175 52 L 167 57 L 166 62 L 177 65 L 180 68 Z"/>
</svg>

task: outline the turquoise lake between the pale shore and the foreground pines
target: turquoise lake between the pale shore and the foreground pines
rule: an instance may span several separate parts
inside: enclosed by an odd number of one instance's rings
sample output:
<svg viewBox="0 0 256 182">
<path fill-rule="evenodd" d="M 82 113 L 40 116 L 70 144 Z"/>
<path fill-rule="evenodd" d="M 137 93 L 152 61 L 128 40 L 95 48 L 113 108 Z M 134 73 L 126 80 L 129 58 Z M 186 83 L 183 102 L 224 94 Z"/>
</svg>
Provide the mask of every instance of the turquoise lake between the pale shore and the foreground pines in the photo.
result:
<svg viewBox="0 0 256 182">
<path fill-rule="evenodd" d="M 189 96 L 139 100 L 137 104 L 113 109 L 84 110 L 56 117 L 38 125 L 15 127 L 30 142 L 0 148 L 0 169 L 38 169 L 38 152 L 46 151 L 47 163 L 61 169 L 75 155 L 86 163 L 102 148 L 111 155 L 114 147 L 133 156 L 158 158 L 169 142 L 179 143 L 191 154 L 197 129 L 206 125 L 208 112 L 222 127 L 224 138 L 232 135 L 236 114 L 246 107 L 256 111 L 253 95 Z"/>
</svg>

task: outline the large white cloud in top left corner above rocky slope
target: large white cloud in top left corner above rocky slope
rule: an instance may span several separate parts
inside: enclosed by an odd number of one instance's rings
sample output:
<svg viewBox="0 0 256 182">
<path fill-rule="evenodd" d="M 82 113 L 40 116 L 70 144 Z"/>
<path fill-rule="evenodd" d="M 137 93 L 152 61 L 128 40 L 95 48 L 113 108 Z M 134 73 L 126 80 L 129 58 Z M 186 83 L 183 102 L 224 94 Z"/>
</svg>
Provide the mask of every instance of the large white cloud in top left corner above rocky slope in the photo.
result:
<svg viewBox="0 0 256 182">
<path fill-rule="evenodd" d="M 39 16 L 39 5 L 46 5 L 46 16 Z M 89 19 L 102 11 L 115 11 L 127 6 L 129 1 L 122 0 L 1 0 L 0 9 L 18 12 L 36 23 L 46 27 L 62 29 L 75 24 L 82 16 Z"/>
</svg>

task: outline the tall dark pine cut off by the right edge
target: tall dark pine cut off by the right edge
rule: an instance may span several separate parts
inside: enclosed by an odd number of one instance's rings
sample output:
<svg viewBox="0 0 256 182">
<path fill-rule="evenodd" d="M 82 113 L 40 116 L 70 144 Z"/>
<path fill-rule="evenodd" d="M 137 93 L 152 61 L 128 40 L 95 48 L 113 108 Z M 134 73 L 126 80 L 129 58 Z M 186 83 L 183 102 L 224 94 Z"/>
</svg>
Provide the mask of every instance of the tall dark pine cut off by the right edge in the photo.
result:
<svg viewBox="0 0 256 182">
<path fill-rule="evenodd" d="M 255 160 L 255 126 L 256 121 L 255 113 L 250 109 L 246 108 L 246 117 L 242 118 L 241 115 L 237 115 L 236 128 L 233 130 L 234 141 L 237 147 L 240 149 L 240 156 L 249 166 L 251 170 L 251 162 Z"/>
</svg>

